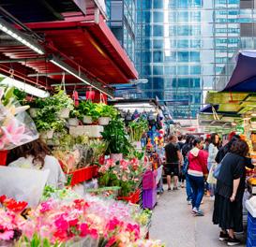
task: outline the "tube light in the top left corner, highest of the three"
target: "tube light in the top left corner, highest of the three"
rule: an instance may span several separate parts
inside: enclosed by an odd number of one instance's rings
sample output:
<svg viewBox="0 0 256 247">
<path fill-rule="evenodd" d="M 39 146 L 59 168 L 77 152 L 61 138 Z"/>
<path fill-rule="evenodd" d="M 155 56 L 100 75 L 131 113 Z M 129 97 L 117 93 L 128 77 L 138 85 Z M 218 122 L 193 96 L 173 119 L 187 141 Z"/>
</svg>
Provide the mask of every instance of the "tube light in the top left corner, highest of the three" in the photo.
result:
<svg viewBox="0 0 256 247">
<path fill-rule="evenodd" d="M 26 47 L 32 49 L 33 51 L 36 51 L 39 55 L 43 55 L 45 52 L 43 51 L 43 48 L 41 48 L 37 42 L 30 40 L 26 36 L 23 35 L 22 32 L 19 30 L 16 30 L 14 27 L 12 27 L 8 22 L 4 21 L 2 18 L 0 18 L 0 30 L 2 30 L 4 33 L 8 34 L 8 36 L 12 36 L 19 42 L 23 43 Z"/>
</svg>

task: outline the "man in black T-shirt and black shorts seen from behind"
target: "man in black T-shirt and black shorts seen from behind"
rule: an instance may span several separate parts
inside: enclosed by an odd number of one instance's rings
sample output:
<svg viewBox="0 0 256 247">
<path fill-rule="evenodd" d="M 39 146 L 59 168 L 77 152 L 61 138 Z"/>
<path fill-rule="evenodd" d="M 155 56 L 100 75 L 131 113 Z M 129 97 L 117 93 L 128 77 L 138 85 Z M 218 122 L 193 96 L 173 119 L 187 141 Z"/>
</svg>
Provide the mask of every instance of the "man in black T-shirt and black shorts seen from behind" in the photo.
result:
<svg viewBox="0 0 256 247">
<path fill-rule="evenodd" d="M 177 145 L 177 138 L 171 135 L 169 143 L 165 146 L 165 162 L 168 190 L 171 190 L 171 181 L 173 176 L 173 190 L 177 190 L 178 176 L 182 163 L 182 155 Z"/>
</svg>

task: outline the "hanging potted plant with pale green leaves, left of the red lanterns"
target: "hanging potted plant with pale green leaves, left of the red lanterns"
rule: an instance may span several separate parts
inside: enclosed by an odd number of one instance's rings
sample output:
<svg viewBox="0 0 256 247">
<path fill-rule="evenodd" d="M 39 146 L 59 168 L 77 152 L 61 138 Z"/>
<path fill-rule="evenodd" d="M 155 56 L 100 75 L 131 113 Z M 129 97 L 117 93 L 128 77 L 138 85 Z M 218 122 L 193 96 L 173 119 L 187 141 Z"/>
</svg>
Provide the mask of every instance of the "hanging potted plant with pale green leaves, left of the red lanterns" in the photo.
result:
<svg viewBox="0 0 256 247">
<path fill-rule="evenodd" d="M 53 94 L 52 100 L 59 118 L 68 119 L 70 110 L 74 109 L 74 102 L 60 87 L 56 88 L 57 94 Z"/>
</svg>

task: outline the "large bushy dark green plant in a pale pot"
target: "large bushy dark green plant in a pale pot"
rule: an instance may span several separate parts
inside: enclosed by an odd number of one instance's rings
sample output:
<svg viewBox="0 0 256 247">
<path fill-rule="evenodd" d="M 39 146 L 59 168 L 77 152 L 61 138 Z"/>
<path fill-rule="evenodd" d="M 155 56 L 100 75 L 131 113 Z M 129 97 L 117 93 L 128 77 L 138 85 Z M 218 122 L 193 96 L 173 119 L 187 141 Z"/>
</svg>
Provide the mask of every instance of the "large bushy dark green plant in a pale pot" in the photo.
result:
<svg viewBox="0 0 256 247">
<path fill-rule="evenodd" d="M 101 135 L 109 143 L 106 154 L 111 154 L 114 161 L 121 160 L 123 154 L 128 155 L 131 145 L 128 141 L 125 124 L 121 119 L 112 120 L 110 124 L 105 126 Z"/>
</svg>

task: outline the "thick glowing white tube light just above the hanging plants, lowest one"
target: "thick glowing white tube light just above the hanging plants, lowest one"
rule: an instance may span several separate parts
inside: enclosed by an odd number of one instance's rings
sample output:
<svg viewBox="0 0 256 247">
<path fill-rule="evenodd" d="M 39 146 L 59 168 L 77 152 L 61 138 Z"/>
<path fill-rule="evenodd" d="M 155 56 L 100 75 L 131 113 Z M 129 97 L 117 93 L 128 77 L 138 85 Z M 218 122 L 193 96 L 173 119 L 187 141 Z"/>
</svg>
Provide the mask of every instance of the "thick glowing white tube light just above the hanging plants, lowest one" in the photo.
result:
<svg viewBox="0 0 256 247">
<path fill-rule="evenodd" d="M 3 75 L 0 75 L 0 76 L 3 76 Z M 3 76 L 3 77 L 5 77 L 5 76 Z M 27 94 L 32 94 L 32 95 L 35 95 L 35 96 L 41 97 L 41 98 L 50 96 L 50 94 L 47 91 L 38 89 L 36 87 L 33 87 L 27 83 L 20 81 L 20 80 L 15 80 L 15 79 L 9 78 L 9 77 L 6 77 L 4 80 L 2 80 L 0 82 L 0 85 L 1 84 L 9 86 L 9 87 L 16 87 L 16 88 L 24 91 Z"/>
</svg>

